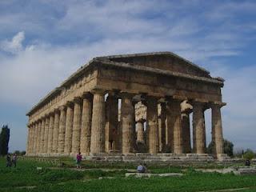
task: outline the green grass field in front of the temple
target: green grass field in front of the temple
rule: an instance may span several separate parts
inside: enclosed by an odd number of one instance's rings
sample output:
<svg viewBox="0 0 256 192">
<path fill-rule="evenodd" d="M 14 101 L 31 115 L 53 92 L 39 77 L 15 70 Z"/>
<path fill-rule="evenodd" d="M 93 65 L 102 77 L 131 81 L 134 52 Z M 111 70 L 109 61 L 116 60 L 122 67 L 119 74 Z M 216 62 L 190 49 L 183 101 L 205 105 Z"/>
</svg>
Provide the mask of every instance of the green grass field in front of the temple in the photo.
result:
<svg viewBox="0 0 256 192">
<path fill-rule="evenodd" d="M 72 160 L 66 160 L 68 167 Z M 17 167 L 6 167 L 0 158 L 0 191 L 216 191 L 238 189 L 256 191 L 256 176 L 234 174 L 201 173 L 192 167 L 149 166 L 151 173 L 182 172 L 180 178 L 125 178 L 127 168 L 132 165 L 95 165 L 86 163 L 86 170 L 58 168 L 50 162 L 19 160 Z M 108 172 L 91 168 L 110 168 Z M 212 167 L 213 165 L 210 165 Z M 42 170 L 37 170 L 42 167 Z M 118 168 L 118 170 L 114 170 Z M 213 167 L 215 168 L 215 167 Z M 98 179 L 103 177 L 102 179 Z M 106 178 L 111 177 L 111 178 Z M 235 191 L 235 190 L 233 190 Z"/>
</svg>

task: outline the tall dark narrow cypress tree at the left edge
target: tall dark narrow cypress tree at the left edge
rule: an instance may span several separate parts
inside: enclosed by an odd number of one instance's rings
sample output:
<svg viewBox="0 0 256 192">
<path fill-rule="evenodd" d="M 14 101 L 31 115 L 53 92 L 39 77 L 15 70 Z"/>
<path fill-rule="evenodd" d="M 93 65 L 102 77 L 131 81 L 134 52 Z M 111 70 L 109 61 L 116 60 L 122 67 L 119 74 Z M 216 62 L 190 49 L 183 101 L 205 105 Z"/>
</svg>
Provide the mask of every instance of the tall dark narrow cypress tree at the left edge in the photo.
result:
<svg viewBox="0 0 256 192">
<path fill-rule="evenodd" d="M 8 154 L 8 144 L 9 144 L 9 139 L 10 139 L 10 129 L 8 126 L 4 125 L 2 126 L 2 131 L 0 134 L 0 155 L 4 156 Z"/>
</svg>

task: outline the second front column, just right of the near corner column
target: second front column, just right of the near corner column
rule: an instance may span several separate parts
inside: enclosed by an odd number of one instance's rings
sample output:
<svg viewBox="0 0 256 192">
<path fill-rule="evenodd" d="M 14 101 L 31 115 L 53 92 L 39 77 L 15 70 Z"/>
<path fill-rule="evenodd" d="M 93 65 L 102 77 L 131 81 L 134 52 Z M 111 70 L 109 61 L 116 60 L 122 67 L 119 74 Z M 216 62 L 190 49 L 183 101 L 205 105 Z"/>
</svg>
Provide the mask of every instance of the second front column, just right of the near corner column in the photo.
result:
<svg viewBox="0 0 256 192">
<path fill-rule="evenodd" d="M 122 126 L 122 154 L 134 152 L 134 105 L 133 95 L 122 94 L 121 126 Z"/>
</svg>

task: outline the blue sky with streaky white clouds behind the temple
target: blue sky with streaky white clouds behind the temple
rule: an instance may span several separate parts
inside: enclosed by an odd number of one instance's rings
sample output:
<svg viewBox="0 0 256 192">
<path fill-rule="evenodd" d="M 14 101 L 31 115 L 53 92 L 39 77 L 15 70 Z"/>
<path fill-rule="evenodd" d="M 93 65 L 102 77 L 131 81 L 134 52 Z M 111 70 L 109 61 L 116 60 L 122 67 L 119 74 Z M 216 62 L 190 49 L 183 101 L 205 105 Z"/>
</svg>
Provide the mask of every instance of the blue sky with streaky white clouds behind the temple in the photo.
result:
<svg viewBox="0 0 256 192">
<path fill-rule="evenodd" d="M 26 112 L 90 58 L 148 51 L 225 78 L 224 137 L 256 150 L 255 10 L 255 1 L 1 0 L 0 125 L 10 126 L 10 150 L 26 149 Z M 210 111 L 206 131 L 210 142 Z"/>
</svg>

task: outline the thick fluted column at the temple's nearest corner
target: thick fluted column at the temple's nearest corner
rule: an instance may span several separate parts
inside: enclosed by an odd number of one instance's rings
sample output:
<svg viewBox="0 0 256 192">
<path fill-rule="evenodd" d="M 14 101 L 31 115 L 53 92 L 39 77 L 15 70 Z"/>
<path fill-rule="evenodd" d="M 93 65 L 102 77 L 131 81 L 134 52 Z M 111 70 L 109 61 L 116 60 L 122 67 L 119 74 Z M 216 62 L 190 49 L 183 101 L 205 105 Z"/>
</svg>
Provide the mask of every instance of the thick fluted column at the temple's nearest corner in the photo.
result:
<svg viewBox="0 0 256 192">
<path fill-rule="evenodd" d="M 105 98 L 102 90 L 94 90 L 90 153 L 105 151 Z"/>
</svg>

